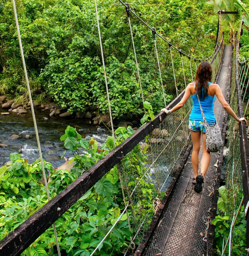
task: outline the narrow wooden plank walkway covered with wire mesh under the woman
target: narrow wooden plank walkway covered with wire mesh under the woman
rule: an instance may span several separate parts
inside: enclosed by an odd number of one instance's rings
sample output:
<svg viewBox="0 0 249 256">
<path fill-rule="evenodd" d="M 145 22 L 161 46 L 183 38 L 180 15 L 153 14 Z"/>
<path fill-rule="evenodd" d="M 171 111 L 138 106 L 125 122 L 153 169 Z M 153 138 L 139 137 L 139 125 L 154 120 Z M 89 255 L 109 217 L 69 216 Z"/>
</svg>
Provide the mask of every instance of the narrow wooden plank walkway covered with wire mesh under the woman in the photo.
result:
<svg viewBox="0 0 249 256">
<path fill-rule="evenodd" d="M 231 75 L 231 45 L 225 46 L 223 63 L 217 83 L 228 101 Z M 215 99 L 215 117 L 221 132 L 226 129 L 226 112 L 221 103 Z M 225 127 L 224 127 L 225 123 Z M 202 149 L 199 158 L 201 159 Z M 222 151 L 223 156 L 223 151 Z M 211 161 L 204 179 L 203 191 L 198 194 L 192 185 L 193 168 L 191 153 L 182 169 L 169 200 L 164 207 L 159 225 L 143 255 L 146 256 L 197 256 L 205 255 L 209 232 L 210 215 L 217 177 L 217 160 L 220 153 L 211 153 Z M 218 182 L 220 182 L 218 180 Z M 211 234 L 212 235 L 212 234 Z"/>
</svg>

